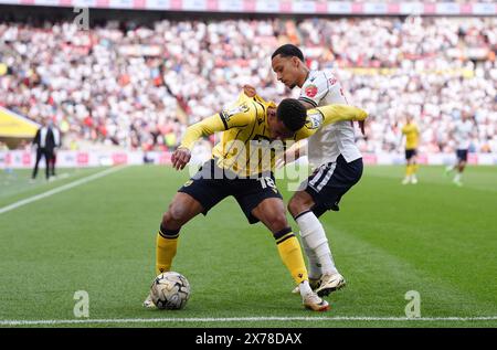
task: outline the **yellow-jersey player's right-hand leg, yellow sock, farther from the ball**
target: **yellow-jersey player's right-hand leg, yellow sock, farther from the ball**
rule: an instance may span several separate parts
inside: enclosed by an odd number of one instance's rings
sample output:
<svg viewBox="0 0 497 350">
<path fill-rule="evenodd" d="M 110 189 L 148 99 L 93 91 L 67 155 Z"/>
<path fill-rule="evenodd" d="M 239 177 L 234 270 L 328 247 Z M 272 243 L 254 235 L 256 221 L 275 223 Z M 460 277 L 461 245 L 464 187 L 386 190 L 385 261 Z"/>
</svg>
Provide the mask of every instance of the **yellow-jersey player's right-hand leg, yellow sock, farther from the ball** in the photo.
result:
<svg viewBox="0 0 497 350">
<path fill-rule="evenodd" d="M 329 308 L 328 303 L 309 286 L 300 244 L 288 225 L 283 201 L 279 198 L 265 199 L 252 211 L 252 214 L 273 233 L 279 256 L 298 286 L 304 306 L 315 311 L 326 311 Z"/>
</svg>

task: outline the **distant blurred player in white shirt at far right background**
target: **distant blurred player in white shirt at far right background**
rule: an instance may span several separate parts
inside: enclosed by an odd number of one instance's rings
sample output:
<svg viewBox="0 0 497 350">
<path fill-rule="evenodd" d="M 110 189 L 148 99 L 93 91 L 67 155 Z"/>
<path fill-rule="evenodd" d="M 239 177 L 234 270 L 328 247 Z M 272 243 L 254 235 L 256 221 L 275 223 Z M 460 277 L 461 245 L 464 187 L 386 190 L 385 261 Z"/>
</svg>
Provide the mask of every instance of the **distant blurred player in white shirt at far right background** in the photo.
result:
<svg viewBox="0 0 497 350">
<path fill-rule="evenodd" d="M 475 124 L 470 120 L 467 113 L 463 113 L 461 120 L 457 120 L 452 130 L 452 135 L 456 142 L 456 163 L 445 169 L 445 173 L 450 174 L 456 171 L 453 182 L 457 185 L 463 185 L 462 177 L 467 163 L 467 152 L 469 149 L 470 139 L 474 132 Z"/>
</svg>

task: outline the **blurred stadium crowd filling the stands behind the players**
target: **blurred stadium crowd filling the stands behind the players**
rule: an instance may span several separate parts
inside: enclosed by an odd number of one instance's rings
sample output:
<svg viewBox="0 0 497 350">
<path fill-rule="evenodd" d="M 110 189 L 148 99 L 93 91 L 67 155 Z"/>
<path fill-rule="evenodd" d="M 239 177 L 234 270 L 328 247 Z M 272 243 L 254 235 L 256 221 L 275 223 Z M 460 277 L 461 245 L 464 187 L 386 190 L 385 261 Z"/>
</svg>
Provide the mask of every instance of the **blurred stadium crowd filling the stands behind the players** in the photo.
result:
<svg viewBox="0 0 497 350">
<path fill-rule="evenodd" d="M 335 70 L 349 103 L 370 113 L 363 151 L 399 150 L 406 114 L 420 151 L 452 151 L 448 130 L 465 113 L 478 126 L 472 150 L 497 152 L 496 18 L 1 23 L 0 106 L 53 118 L 70 138 L 173 149 L 244 84 L 276 102 L 295 96 L 271 70 L 286 42 L 311 68 Z"/>
</svg>

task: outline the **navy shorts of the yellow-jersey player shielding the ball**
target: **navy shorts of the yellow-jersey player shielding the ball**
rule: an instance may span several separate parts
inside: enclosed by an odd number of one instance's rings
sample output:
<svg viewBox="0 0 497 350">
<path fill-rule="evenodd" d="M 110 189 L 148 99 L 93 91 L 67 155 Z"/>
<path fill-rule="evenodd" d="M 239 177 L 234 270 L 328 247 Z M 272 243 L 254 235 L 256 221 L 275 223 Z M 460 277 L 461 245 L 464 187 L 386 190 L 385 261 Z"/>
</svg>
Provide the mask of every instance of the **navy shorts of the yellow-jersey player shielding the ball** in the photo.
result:
<svg viewBox="0 0 497 350">
<path fill-rule="evenodd" d="M 252 211 L 262 201 L 268 198 L 283 200 L 273 173 L 257 179 L 236 178 L 233 172 L 218 167 L 214 159 L 207 161 L 178 192 L 190 194 L 202 204 L 204 215 L 223 199 L 233 195 L 251 224 L 260 221 Z"/>
</svg>

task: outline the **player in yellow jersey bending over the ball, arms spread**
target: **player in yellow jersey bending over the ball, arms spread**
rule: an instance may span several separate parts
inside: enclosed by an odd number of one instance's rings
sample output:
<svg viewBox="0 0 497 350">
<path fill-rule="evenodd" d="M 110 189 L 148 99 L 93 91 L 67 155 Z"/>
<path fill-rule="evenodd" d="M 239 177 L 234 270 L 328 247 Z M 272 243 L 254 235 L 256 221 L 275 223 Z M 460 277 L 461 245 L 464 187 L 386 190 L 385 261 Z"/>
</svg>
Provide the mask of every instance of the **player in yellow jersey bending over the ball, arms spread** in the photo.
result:
<svg viewBox="0 0 497 350">
<path fill-rule="evenodd" d="M 184 183 L 162 216 L 157 234 L 156 273 L 170 271 L 180 229 L 233 195 L 251 224 L 261 221 L 273 233 L 304 306 L 315 311 L 327 310 L 328 303 L 309 286 L 299 242 L 287 222 L 283 198 L 274 181 L 275 157 L 278 149 L 284 151 L 282 140 L 299 140 L 324 125 L 366 117 L 364 110 L 347 105 L 306 112 L 297 99 L 284 99 L 276 107 L 257 95 L 248 97 L 242 93 L 231 107 L 190 126 L 172 155 L 172 166 L 178 170 L 189 162 L 193 144 L 200 137 L 223 131 L 222 140 L 214 147 L 212 159 Z M 150 296 L 144 305 L 154 306 Z"/>
</svg>

